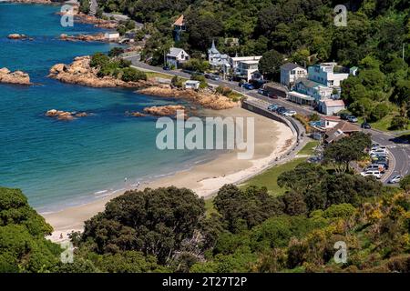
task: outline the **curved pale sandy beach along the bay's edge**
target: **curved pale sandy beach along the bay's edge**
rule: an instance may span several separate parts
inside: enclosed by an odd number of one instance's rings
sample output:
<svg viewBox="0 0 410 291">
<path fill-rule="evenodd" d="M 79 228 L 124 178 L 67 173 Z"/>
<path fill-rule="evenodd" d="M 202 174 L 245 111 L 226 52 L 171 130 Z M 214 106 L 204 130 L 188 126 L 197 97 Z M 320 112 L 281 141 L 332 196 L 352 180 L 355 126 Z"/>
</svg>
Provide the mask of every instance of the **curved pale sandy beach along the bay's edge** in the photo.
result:
<svg viewBox="0 0 410 291">
<path fill-rule="evenodd" d="M 292 130 L 282 123 L 261 115 L 256 115 L 242 108 L 220 111 L 209 111 L 206 115 L 252 116 L 255 120 L 255 151 L 251 160 L 240 160 L 235 151 L 221 154 L 208 163 L 193 166 L 189 170 L 173 176 L 160 178 L 148 184 L 141 184 L 138 189 L 146 187 L 178 186 L 192 189 L 198 196 L 214 195 L 225 184 L 238 184 L 261 173 L 272 165 L 276 157 L 282 156 L 295 143 Z M 72 231 L 81 231 L 84 221 L 104 210 L 107 202 L 122 195 L 114 193 L 86 205 L 66 208 L 62 211 L 44 214 L 46 221 L 54 227 L 50 237 L 54 241 L 66 240 Z M 61 234 L 63 237 L 61 238 Z"/>
</svg>

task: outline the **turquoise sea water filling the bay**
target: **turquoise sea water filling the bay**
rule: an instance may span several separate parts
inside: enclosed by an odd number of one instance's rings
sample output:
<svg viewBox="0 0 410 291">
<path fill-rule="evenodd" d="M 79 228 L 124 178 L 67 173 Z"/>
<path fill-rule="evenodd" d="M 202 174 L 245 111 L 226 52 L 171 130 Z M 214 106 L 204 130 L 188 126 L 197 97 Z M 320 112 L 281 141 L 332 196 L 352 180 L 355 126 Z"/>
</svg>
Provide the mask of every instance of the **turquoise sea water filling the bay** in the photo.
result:
<svg viewBox="0 0 410 291">
<path fill-rule="evenodd" d="M 0 186 L 21 188 L 36 209 L 53 211 L 174 173 L 214 154 L 159 151 L 156 118 L 124 115 L 147 105 L 177 104 L 175 100 L 47 78 L 52 65 L 110 49 L 108 44 L 59 41 L 62 33 L 98 29 L 62 27 L 58 10 L 54 5 L 0 3 L 0 67 L 23 70 L 37 84 L 0 84 Z M 35 39 L 8 40 L 12 33 Z M 44 116 L 52 108 L 95 115 L 61 122 Z"/>
</svg>

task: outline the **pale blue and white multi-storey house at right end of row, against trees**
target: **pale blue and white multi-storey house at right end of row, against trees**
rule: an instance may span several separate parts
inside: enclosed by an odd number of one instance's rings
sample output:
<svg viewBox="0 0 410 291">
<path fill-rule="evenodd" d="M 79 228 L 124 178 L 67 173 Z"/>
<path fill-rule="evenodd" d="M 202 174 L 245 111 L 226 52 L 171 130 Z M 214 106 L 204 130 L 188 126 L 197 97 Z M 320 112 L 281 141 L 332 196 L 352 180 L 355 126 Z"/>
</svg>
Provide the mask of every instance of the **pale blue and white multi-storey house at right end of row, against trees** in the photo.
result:
<svg viewBox="0 0 410 291">
<path fill-rule="evenodd" d="M 347 73 L 334 73 L 336 63 L 322 63 L 308 68 L 308 79 L 329 86 L 340 87 L 341 82 L 347 79 Z"/>
</svg>

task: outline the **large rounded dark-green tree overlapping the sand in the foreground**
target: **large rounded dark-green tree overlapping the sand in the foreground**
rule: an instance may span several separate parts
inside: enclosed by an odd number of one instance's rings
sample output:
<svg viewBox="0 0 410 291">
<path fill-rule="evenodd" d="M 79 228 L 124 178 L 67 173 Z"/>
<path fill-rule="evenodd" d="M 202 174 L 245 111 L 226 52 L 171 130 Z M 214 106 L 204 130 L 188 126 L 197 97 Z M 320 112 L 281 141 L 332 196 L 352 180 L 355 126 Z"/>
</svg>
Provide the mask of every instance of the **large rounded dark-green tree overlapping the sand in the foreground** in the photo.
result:
<svg viewBox="0 0 410 291">
<path fill-rule="evenodd" d="M 204 202 L 185 188 L 128 191 L 85 223 L 81 246 L 97 254 L 140 251 L 166 264 L 193 236 Z"/>
</svg>

